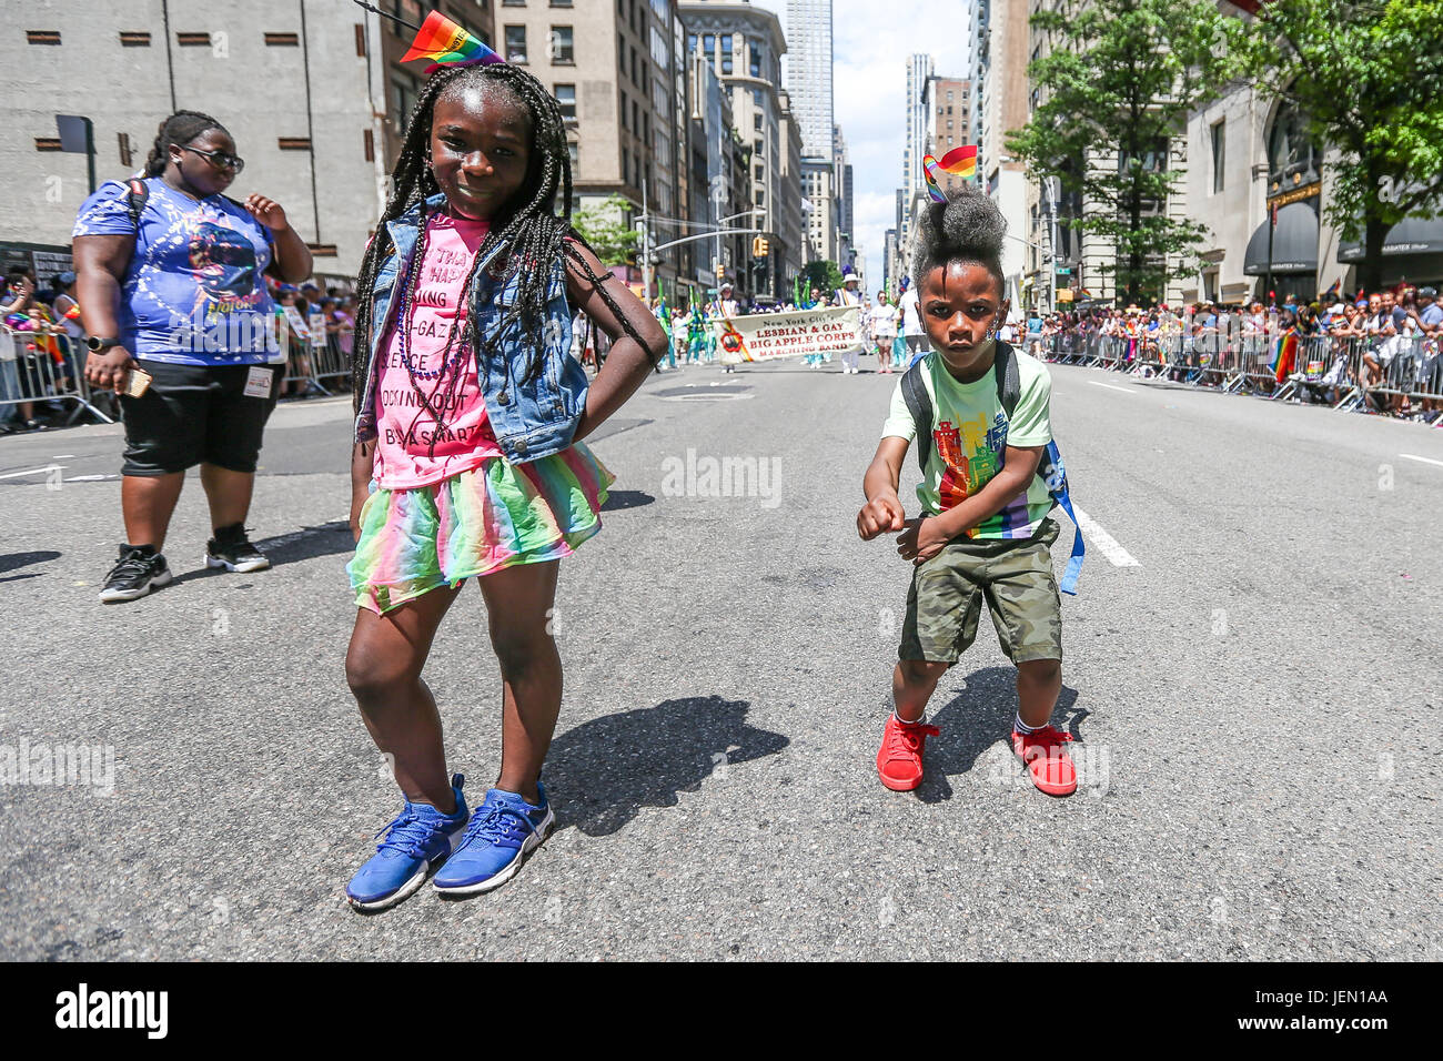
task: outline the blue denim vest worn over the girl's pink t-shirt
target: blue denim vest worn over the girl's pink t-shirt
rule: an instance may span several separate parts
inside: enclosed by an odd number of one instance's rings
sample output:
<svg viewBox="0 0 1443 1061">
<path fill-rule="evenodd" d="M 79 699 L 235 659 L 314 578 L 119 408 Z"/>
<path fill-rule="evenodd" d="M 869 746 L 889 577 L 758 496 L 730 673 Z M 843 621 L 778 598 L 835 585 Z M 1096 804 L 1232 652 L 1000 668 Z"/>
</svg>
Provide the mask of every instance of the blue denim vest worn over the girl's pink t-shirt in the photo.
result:
<svg viewBox="0 0 1443 1061">
<path fill-rule="evenodd" d="M 356 442 L 371 442 L 377 436 L 374 401 L 380 378 L 381 344 L 391 332 L 398 287 L 404 284 L 411 256 L 416 253 L 421 219 L 426 211 L 440 206 L 444 201 L 444 195 L 433 195 L 426 201 L 424 211 L 421 206 L 413 206 L 385 225 L 391 234 L 392 250 L 371 287 L 371 349 L 365 394 L 355 423 Z M 488 253 L 476 273 L 469 313 L 489 348 L 489 355 L 476 351 L 486 416 L 506 460 L 519 465 L 558 453 L 571 445 L 576 424 L 586 407 L 587 378 L 586 370 L 571 357 L 571 310 L 566 302 L 566 273 L 560 261 L 553 261 L 543 326 L 544 361 L 537 378 L 525 380 L 531 361 L 530 336 L 517 325 L 506 328 L 501 325 L 501 318 L 517 303 L 521 274 L 518 270 L 506 280 L 498 281 L 488 270 L 494 256 L 495 251 Z"/>
</svg>

